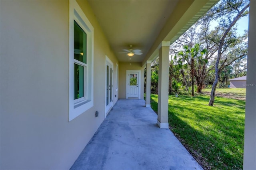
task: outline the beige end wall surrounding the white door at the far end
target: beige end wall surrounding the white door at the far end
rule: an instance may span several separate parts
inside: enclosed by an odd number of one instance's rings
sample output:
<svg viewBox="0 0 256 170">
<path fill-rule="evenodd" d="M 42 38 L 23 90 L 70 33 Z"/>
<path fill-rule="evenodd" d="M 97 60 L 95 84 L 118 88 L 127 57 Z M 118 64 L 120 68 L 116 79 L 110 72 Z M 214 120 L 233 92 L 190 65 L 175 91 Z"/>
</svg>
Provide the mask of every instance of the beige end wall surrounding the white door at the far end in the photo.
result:
<svg viewBox="0 0 256 170">
<path fill-rule="evenodd" d="M 136 57 L 136 56 L 134 56 Z M 140 99 L 144 99 L 144 67 L 141 63 L 119 63 L 119 99 L 126 98 L 126 70 L 139 70 L 140 71 Z"/>
</svg>

